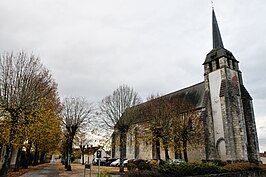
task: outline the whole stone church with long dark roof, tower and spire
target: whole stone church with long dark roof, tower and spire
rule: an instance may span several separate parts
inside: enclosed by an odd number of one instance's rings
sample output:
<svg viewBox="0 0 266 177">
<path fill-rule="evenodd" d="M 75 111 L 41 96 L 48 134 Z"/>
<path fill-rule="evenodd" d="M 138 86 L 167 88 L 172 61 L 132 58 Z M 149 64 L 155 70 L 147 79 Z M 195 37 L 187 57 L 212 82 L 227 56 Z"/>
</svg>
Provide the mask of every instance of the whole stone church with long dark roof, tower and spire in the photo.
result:
<svg viewBox="0 0 266 177">
<path fill-rule="evenodd" d="M 204 138 L 198 148 L 188 148 L 189 161 L 259 162 L 252 97 L 244 86 L 238 60 L 224 48 L 214 10 L 212 33 L 213 49 L 203 61 L 204 81 L 162 97 L 189 101 L 203 122 Z M 145 138 L 149 136 L 146 130 L 151 125 L 145 116 L 146 104 L 127 110 L 137 108 L 138 113 L 134 113 L 133 121 L 124 133 L 119 131 L 118 126 L 115 127 L 112 136 L 113 157 L 120 158 L 120 153 L 123 153 L 122 157 L 128 159 L 155 159 L 155 151 L 159 147 L 160 158 L 166 159 L 162 142 L 155 144 Z M 125 121 L 124 117 L 122 115 L 120 119 L 122 122 Z M 125 138 L 124 143 L 121 136 Z M 175 159 L 174 148 L 169 146 L 168 151 L 169 158 Z"/>
</svg>

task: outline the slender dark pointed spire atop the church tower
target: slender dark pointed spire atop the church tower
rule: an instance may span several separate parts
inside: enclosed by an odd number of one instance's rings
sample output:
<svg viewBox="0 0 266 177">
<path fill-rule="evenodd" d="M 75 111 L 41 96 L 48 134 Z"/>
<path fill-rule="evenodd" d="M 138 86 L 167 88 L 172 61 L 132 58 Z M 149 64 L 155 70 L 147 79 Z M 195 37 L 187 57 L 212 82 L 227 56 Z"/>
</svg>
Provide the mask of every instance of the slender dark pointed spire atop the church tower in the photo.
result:
<svg viewBox="0 0 266 177">
<path fill-rule="evenodd" d="M 214 9 L 212 8 L 212 40 L 213 40 L 213 49 L 224 48 L 221 33 L 219 26 L 216 20 Z"/>
</svg>

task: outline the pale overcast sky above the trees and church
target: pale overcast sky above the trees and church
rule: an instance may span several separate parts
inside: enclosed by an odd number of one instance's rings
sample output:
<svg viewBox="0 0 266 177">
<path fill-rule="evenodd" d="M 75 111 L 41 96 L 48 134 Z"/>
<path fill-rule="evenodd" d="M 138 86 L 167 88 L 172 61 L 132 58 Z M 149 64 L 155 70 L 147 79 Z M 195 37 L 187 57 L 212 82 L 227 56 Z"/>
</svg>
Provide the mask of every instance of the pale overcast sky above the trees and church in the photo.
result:
<svg viewBox="0 0 266 177">
<path fill-rule="evenodd" d="M 213 1 L 266 151 L 266 1 Z M 98 104 L 126 84 L 145 100 L 203 81 L 211 13 L 210 0 L 1 0 L 0 52 L 38 56 L 61 98 Z"/>
</svg>

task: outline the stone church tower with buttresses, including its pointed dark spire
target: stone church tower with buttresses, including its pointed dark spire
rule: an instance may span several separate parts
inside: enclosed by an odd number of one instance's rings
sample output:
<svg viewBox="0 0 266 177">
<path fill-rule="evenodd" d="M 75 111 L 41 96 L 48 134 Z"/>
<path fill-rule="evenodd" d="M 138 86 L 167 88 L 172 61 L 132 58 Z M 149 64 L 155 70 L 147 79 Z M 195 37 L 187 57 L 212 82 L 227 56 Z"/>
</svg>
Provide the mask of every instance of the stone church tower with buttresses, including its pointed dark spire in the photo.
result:
<svg viewBox="0 0 266 177">
<path fill-rule="evenodd" d="M 245 89 L 239 62 L 224 48 L 214 9 L 213 49 L 204 65 L 206 159 L 259 162 L 252 98 Z"/>
</svg>

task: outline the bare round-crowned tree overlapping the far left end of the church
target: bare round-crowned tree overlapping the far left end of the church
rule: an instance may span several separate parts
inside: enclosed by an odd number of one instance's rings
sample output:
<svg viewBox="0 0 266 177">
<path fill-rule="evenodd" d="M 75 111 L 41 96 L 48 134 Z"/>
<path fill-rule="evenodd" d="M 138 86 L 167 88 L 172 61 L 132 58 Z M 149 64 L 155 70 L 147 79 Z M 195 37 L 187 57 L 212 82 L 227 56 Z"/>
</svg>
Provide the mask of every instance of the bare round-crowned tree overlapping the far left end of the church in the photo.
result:
<svg viewBox="0 0 266 177">
<path fill-rule="evenodd" d="M 122 162 L 125 158 L 126 134 L 133 121 L 132 109 L 128 108 L 140 104 L 141 98 L 137 92 L 127 85 L 119 86 L 112 95 L 105 97 L 101 104 L 101 120 L 107 131 L 119 131 L 120 135 L 120 171 L 124 171 Z M 121 118 L 121 119 L 120 119 Z"/>
</svg>

